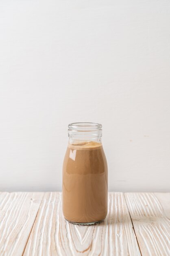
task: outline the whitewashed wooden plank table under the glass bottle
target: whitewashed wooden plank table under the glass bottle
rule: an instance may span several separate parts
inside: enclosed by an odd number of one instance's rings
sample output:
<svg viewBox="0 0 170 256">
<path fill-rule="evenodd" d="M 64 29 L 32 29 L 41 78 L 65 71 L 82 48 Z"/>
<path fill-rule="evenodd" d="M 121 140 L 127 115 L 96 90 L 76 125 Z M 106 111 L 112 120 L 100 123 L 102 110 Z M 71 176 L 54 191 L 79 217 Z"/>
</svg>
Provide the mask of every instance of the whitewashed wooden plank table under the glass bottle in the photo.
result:
<svg viewBox="0 0 170 256">
<path fill-rule="evenodd" d="M 109 193 L 91 226 L 65 221 L 61 192 L 0 193 L 0 256 L 170 256 L 170 193 Z"/>
</svg>

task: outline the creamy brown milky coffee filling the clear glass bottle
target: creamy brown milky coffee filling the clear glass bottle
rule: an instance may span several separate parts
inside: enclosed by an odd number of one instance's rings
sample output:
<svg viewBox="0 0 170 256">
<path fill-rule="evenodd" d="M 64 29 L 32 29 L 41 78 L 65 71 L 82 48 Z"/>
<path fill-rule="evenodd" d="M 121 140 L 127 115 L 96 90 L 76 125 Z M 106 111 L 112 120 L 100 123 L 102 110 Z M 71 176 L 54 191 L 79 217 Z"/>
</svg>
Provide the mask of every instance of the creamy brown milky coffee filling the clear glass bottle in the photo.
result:
<svg viewBox="0 0 170 256">
<path fill-rule="evenodd" d="M 107 160 L 102 144 L 69 144 L 63 163 L 63 214 L 89 223 L 107 215 Z"/>
</svg>

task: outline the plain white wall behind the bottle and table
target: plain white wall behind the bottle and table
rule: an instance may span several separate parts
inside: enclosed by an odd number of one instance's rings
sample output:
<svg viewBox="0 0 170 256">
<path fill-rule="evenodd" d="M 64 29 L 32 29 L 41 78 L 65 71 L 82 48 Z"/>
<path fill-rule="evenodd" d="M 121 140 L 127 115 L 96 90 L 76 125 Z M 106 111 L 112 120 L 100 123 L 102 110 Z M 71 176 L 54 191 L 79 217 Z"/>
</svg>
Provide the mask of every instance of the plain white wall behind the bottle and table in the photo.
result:
<svg viewBox="0 0 170 256">
<path fill-rule="evenodd" d="M 170 190 L 170 1 L 0 1 L 0 190 L 61 190 L 70 122 L 109 190 Z"/>
</svg>

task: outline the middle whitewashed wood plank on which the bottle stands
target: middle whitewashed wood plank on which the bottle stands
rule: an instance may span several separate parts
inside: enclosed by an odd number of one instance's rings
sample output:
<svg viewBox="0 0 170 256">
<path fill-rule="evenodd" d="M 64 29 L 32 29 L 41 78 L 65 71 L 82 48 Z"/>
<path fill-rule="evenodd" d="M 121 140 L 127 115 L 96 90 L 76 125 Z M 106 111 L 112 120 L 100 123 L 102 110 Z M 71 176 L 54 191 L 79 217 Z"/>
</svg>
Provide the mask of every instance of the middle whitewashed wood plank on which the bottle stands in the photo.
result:
<svg viewBox="0 0 170 256">
<path fill-rule="evenodd" d="M 123 193 L 109 193 L 104 222 L 79 226 L 62 214 L 61 193 L 45 193 L 24 256 L 139 256 Z"/>
</svg>

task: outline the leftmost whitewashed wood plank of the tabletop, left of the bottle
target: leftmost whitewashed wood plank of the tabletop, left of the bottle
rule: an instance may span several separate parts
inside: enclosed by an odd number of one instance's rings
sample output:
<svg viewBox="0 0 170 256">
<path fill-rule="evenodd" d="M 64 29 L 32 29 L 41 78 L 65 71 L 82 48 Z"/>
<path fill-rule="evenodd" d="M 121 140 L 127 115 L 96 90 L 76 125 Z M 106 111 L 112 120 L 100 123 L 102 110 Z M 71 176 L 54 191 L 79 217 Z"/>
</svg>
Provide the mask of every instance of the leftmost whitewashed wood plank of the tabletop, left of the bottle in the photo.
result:
<svg viewBox="0 0 170 256">
<path fill-rule="evenodd" d="M 0 193 L 0 256 L 22 256 L 44 193 Z"/>
</svg>

